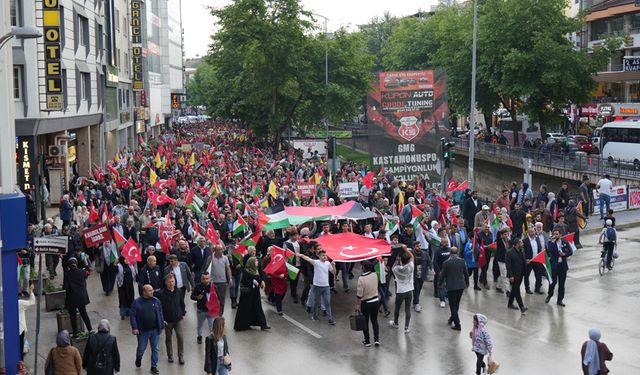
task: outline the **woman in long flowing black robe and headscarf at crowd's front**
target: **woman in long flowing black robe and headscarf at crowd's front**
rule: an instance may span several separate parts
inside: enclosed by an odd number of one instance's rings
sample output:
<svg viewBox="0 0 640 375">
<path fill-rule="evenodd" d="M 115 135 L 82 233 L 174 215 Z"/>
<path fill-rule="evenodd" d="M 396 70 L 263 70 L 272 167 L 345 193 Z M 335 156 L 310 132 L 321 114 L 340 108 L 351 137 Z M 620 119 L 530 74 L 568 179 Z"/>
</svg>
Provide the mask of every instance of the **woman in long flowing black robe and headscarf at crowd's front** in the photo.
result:
<svg viewBox="0 0 640 375">
<path fill-rule="evenodd" d="M 267 318 L 262 311 L 260 288 L 264 288 L 264 281 L 258 272 L 258 259 L 252 256 L 247 259 L 242 271 L 240 302 L 233 324 L 235 331 L 247 330 L 251 326 L 259 326 L 263 331 L 271 329 L 267 325 Z"/>
</svg>

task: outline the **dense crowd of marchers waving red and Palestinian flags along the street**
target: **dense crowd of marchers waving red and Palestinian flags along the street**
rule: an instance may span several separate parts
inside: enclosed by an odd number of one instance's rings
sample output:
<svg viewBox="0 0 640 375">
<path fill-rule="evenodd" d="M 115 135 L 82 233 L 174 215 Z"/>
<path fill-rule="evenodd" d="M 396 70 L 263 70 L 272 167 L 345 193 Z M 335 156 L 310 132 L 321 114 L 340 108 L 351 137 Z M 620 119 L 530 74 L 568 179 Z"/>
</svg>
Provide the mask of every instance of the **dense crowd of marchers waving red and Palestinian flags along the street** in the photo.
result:
<svg viewBox="0 0 640 375">
<path fill-rule="evenodd" d="M 70 346 L 71 337 L 80 331 L 78 313 L 92 331 L 86 311 L 90 297 L 95 297 L 95 292 L 87 291 L 91 273 L 99 273 L 106 295 L 117 291 L 119 316 L 129 319 L 138 342 L 135 366 L 142 366 L 150 346 L 154 374 L 159 373 L 162 331 L 167 360 L 174 362 L 177 356 L 184 364 L 188 335 L 182 326 L 189 301 L 196 304 L 196 342 L 204 342 L 208 374 L 231 369 L 223 317 L 229 304 L 235 310 L 229 328 L 270 329 L 261 293 L 279 315 L 300 304 L 312 320 L 322 315 L 334 325 L 332 294 L 339 289 L 348 293 L 355 286 L 354 316 L 360 319 L 358 329 L 366 347 L 380 345 L 379 313 L 389 318 L 391 327 L 400 327 L 403 304 L 404 332 L 411 332 L 412 310 L 422 311 L 421 294 L 428 282 L 433 283 L 440 307 L 449 306 L 448 324 L 457 331 L 462 329 L 458 307 L 471 284 L 473 292 L 504 294 L 505 306 L 522 314 L 527 311 L 522 284 L 525 293 L 546 293 L 546 303 L 556 296 L 555 303 L 563 307 L 568 259 L 581 247 L 580 226 L 592 203 L 588 178 L 583 179 L 577 199 L 570 197 L 567 184 L 557 194 L 542 185 L 534 195 L 527 183 L 514 182 L 495 201 L 483 202 L 465 183 L 453 182 L 438 191 L 427 188 L 420 177 L 403 181 L 384 168 L 371 171 L 365 164 L 346 162 L 334 174 L 317 153 L 276 150 L 231 122 L 203 122 L 139 143 L 135 151 L 123 149 L 106 170 L 94 166 L 90 177 L 74 176 L 60 202 L 61 228 L 53 219 L 42 226 L 30 220 L 30 243 L 34 236 L 69 237 L 67 255 L 46 256 L 50 279 L 55 280 L 62 269 L 65 308 L 72 324 L 72 332 L 58 334 L 57 346 L 47 357 L 46 366 L 53 374 L 79 374 L 82 368 L 89 374 L 106 374 L 121 368 L 117 341 L 106 320 L 99 322 L 84 353 Z M 358 183 L 355 200 L 375 212 L 375 218 L 265 229 L 267 215 L 286 206 L 344 203 L 337 193 L 342 182 Z M 303 196 L 297 186 L 309 183 L 315 192 Z M 607 186 L 611 187 L 608 178 L 598 182 L 601 197 Z M 601 239 L 605 244 L 615 242 L 615 229 L 606 230 L 615 226 L 612 211 L 601 217 L 606 225 Z M 88 246 L 82 233 L 102 225 L 108 228 L 109 240 Z M 334 262 L 316 239 L 341 232 L 385 239 L 391 254 L 358 265 Z M 279 251 L 288 260 L 276 267 L 274 254 Z M 19 257 L 29 275 L 35 264 L 32 249 L 22 250 Z M 351 281 L 358 274 L 357 281 Z M 546 292 L 545 278 L 549 279 Z M 20 288 L 23 297 L 33 298 L 28 276 Z M 469 333 L 477 374 L 486 369 L 485 356 L 491 357 L 493 348 L 486 324 L 486 316 L 474 315 Z M 22 338 L 25 331 L 26 324 Z M 585 374 L 606 373 L 604 360 L 610 360 L 610 352 L 603 352 L 599 335 L 591 336 L 583 348 L 588 361 Z M 491 360 L 489 365 L 496 366 Z M 592 372 L 594 368 L 601 372 Z"/>
</svg>

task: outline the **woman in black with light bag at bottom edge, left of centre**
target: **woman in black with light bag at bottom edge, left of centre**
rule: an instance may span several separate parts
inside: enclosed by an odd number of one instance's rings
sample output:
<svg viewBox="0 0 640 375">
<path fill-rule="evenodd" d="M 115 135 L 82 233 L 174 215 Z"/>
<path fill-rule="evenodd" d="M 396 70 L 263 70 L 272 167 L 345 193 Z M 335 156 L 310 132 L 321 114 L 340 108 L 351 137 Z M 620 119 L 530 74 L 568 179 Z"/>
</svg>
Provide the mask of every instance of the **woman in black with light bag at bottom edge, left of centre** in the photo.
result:
<svg viewBox="0 0 640 375">
<path fill-rule="evenodd" d="M 227 375 L 231 371 L 231 356 L 227 343 L 225 319 L 218 317 L 207 336 L 204 352 L 204 372 L 208 375 Z"/>
</svg>

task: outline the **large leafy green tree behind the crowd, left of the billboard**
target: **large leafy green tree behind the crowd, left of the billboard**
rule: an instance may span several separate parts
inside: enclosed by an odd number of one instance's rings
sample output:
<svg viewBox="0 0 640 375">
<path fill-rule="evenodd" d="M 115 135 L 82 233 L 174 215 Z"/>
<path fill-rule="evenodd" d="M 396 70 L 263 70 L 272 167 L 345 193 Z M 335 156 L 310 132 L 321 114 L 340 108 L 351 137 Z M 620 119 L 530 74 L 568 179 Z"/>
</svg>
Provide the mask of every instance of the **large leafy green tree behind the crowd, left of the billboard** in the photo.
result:
<svg viewBox="0 0 640 375">
<path fill-rule="evenodd" d="M 339 30 L 328 41 L 327 86 L 324 34 L 298 0 L 236 0 L 211 13 L 219 24 L 206 58 L 211 67 L 190 85 L 211 114 L 239 119 L 279 145 L 287 128 L 356 113 L 373 63 L 361 37 Z"/>
</svg>

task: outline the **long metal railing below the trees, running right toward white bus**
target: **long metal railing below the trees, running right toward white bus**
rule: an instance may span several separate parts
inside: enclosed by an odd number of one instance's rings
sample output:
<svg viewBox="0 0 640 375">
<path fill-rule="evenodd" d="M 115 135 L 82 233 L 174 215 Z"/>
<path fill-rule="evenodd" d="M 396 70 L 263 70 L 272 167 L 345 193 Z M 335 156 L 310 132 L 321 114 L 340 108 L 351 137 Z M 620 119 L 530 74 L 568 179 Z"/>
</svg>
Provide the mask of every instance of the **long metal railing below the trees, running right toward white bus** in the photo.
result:
<svg viewBox="0 0 640 375">
<path fill-rule="evenodd" d="M 457 153 L 462 151 L 468 155 L 469 141 L 462 138 L 454 138 Z M 490 155 L 497 161 L 522 161 L 531 159 L 533 164 L 561 169 L 570 169 L 581 172 L 591 172 L 598 175 L 608 174 L 617 178 L 640 179 L 640 165 L 633 161 L 622 159 L 603 159 L 599 155 L 587 155 L 586 153 L 572 152 L 569 154 L 542 151 L 541 149 L 496 145 L 493 143 L 476 142 L 476 153 Z"/>
</svg>

